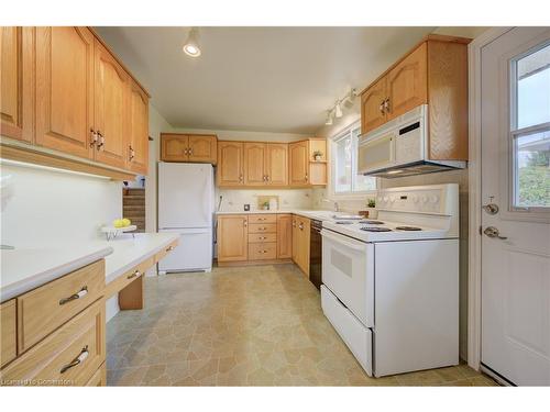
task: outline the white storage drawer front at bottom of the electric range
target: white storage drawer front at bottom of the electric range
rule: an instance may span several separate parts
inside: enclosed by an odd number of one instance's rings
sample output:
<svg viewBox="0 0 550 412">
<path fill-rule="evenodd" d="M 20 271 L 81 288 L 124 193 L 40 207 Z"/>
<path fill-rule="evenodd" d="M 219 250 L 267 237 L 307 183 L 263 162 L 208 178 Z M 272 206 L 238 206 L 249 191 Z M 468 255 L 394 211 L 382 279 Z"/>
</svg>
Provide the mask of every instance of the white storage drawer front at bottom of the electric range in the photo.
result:
<svg viewBox="0 0 550 412">
<path fill-rule="evenodd" d="M 373 376 L 372 332 L 345 309 L 324 285 L 321 285 L 324 315 L 369 376 Z"/>
</svg>

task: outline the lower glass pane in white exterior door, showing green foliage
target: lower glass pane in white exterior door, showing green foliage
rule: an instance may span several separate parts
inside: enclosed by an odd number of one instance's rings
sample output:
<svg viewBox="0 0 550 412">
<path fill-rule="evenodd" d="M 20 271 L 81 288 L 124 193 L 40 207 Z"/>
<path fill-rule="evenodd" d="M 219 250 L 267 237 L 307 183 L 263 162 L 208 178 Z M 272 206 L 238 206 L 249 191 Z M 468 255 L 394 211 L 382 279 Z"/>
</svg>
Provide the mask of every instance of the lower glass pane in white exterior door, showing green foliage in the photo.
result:
<svg viewBox="0 0 550 412">
<path fill-rule="evenodd" d="M 549 208 L 550 130 L 516 136 L 514 148 L 516 207 Z"/>
</svg>

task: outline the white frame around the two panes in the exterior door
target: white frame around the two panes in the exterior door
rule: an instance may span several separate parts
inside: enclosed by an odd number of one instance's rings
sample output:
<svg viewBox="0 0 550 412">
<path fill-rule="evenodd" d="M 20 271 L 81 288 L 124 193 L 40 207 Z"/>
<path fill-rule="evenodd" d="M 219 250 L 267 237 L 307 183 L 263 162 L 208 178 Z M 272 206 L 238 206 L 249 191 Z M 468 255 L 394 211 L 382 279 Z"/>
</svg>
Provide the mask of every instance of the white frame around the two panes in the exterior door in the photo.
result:
<svg viewBox="0 0 550 412">
<path fill-rule="evenodd" d="M 537 214 L 550 214 L 550 207 L 521 207 L 517 204 L 518 199 L 518 156 L 517 156 L 517 141 L 521 136 L 544 132 L 550 129 L 550 122 L 537 123 L 529 126 L 518 129 L 518 78 L 517 65 L 522 58 L 548 47 L 550 42 L 542 42 L 535 47 L 514 56 L 509 60 L 508 66 L 508 86 L 509 86 L 509 116 L 508 116 L 508 210 L 510 212 L 530 212 Z"/>
</svg>

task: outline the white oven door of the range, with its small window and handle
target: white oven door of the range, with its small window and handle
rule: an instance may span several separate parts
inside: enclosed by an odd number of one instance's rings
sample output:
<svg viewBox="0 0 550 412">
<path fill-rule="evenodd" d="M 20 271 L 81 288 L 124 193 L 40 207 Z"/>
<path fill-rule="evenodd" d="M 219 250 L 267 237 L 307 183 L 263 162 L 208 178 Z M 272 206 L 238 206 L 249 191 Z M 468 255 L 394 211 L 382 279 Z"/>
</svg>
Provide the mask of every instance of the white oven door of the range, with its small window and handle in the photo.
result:
<svg viewBox="0 0 550 412">
<path fill-rule="evenodd" d="M 323 230 L 322 282 L 367 327 L 374 326 L 374 247 Z"/>
</svg>

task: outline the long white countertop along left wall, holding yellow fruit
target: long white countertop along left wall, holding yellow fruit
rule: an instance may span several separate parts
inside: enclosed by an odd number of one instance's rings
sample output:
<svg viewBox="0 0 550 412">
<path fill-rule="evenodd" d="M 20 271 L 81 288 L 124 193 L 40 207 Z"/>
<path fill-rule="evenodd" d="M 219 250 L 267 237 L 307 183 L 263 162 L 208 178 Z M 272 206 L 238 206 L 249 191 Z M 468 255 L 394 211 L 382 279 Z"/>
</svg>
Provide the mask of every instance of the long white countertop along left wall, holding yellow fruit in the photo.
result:
<svg viewBox="0 0 550 412">
<path fill-rule="evenodd" d="M 172 233 L 119 235 L 116 240 L 1 250 L 0 302 L 106 258 L 106 283 L 177 240 Z"/>
</svg>

